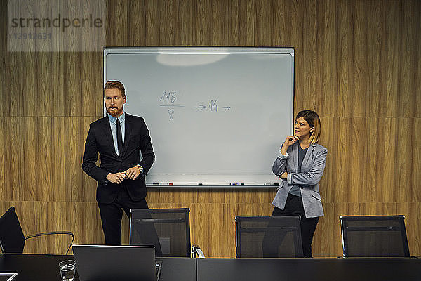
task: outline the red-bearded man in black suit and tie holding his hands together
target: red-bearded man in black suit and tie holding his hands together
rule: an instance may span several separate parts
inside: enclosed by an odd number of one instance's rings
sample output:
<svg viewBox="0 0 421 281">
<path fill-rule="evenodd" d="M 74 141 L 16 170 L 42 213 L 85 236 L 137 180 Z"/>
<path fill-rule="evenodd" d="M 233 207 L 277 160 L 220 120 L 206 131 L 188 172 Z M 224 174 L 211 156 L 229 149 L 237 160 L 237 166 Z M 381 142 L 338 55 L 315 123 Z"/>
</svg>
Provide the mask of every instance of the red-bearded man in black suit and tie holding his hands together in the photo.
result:
<svg viewBox="0 0 421 281">
<path fill-rule="evenodd" d="M 103 95 L 108 114 L 89 125 L 82 169 L 98 181 L 96 199 L 105 244 L 119 245 L 121 209 L 130 217 L 130 209 L 148 208 L 145 175 L 154 163 L 155 155 L 142 117 L 123 111 L 126 103 L 123 84 L 107 81 Z M 100 166 L 96 164 L 98 152 Z"/>
</svg>

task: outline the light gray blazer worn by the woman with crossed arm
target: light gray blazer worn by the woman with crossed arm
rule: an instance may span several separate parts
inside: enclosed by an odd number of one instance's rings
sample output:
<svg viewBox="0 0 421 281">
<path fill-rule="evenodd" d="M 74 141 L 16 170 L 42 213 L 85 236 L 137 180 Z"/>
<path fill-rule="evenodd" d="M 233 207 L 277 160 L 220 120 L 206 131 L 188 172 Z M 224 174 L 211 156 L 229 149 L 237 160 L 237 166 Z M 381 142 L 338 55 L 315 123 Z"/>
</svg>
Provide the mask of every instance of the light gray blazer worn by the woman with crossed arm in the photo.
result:
<svg viewBox="0 0 421 281">
<path fill-rule="evenodd" d="M 279 209 L 283 209 L 290 189 L 293 188 L 293 185 L 300 185 L 306 218 L 323 216 L 319 181 L 326 166 L 328 149 L 317 143 L 310 145 L 302 160 L 301 173 L 298 174 L 296 173 L 298 170 L 298 145 L 298 142 L 291 145 L 286 150 L 287 155 L 282 155 L 279 152 L 272 166 L 275 175 L 281 176 L 285 171 L 288 173 L 288 178 L 283 179 L 279 184 L 278 192 L 276 192 L 272 204 Z"/>
</svg>

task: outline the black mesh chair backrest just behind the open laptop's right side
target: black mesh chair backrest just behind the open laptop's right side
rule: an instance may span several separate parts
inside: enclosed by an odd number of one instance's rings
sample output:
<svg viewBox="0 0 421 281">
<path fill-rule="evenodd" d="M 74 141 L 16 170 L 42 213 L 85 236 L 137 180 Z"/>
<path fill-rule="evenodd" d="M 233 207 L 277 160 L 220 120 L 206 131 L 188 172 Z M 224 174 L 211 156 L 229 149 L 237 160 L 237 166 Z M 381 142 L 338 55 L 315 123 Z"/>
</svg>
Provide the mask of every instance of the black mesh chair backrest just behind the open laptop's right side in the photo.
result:
<svg viewBox="0 0 421 281">
<path fill-rule="evenodd" d="M 154 246 L 156 256 L 191 256 L 190 209 L 131 209 L 130 244 Z"/>
</svg>

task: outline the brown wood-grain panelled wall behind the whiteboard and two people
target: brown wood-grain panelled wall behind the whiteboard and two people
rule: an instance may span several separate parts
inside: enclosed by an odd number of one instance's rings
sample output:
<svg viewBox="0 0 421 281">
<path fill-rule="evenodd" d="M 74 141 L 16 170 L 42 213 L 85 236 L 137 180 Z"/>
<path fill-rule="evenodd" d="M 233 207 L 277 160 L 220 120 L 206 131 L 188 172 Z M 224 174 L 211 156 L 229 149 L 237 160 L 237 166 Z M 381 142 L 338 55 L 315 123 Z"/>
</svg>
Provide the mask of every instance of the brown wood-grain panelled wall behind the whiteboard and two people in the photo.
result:
<svg viewBox="0 0 421 281">
<path fill-rule="evenodd" d="M 96 183 L 81 170 L 88 124 L 102 116 L 102 53 L 8 52 L 0 7 L 0 212 L 17 207 L 27 235 L 72 230 L 77 243 L 102 244 Z M 314 256 L 342 254 L 341 214 L 404 214 L 420 255 L 420 14 L 417 0 L 108 0 L 107 46 L 294 47 L 295 112 L 319 112 L 329 150 Z M 234 217 L 269 216 L 275 193 L 151 188 L 147 201 L 189 207 L 192 242 L 232 257 Z M 25 251 L 62 253 L 67 242 Z"/>
</svg>

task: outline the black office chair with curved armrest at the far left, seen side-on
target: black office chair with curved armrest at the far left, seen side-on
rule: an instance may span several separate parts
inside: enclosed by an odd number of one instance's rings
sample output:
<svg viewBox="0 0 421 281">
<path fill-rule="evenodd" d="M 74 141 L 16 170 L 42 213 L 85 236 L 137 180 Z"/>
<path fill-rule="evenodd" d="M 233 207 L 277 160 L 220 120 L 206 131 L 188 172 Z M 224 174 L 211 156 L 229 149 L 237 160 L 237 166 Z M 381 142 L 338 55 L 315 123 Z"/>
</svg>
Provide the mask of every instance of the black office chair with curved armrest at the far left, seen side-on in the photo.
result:
<svg viewBox="0 0 421 281">
<path fill-rule="evenodd" d="M 10 207 L 6 211 L 6 213 L 4 213 L 3 216 L 1 216 L 0 218 L 0 248 L 3 253 L 22 254 L 26 240 L 44 235 L 57 234 L 72 236 L 72 242 L 70 242 L 70 245 L 66 251 L 67 254 L 69 252 L 70 247 L 72 247 L 74 241 L 73 233 L 69 231 L 53 231 L 49 233 L 36 233 L 34 235 L 29 235 L 25 237 L 25 235 L 23 235 L 22 227 L 20 226 L 19 218 L 16 214 L 15 207 Z"/>
</svg>

